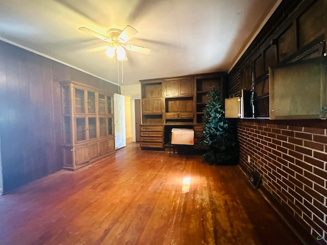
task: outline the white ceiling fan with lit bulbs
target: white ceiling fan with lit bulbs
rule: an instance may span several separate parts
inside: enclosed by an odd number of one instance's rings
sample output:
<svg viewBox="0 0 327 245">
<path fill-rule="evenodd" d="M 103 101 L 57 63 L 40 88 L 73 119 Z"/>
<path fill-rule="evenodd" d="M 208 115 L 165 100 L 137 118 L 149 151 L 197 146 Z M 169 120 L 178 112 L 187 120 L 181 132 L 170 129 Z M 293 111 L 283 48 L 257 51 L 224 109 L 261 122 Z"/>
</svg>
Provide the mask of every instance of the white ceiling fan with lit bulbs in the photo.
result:
<svg viewBox="0 0 327 245">
<path fill-rule="evenodd" d="M 86 50 L 86 52 L 98 52 L 101 50 L 106 50 L 105 54 L 110 58 L 116 57 L 119 61 L 127 60 L 125 50 L 138 52 L 142 54 L 150 54 L 150 48 L 136 46 L 132 44 L 127 44 L 126 42 L 131 39 L 136 33 L 135 28 L 127 25 L 124 30 L 111 28 L 107 31 L 107 36 L 103 36 L 95 31 L 92 31 L 86 27 L 80 27 L 78 30 L 99 38 L 105 42 L 110 43 L 110 45 L 104 45 L 100 47 L 91 48 Z"/>
</svg>

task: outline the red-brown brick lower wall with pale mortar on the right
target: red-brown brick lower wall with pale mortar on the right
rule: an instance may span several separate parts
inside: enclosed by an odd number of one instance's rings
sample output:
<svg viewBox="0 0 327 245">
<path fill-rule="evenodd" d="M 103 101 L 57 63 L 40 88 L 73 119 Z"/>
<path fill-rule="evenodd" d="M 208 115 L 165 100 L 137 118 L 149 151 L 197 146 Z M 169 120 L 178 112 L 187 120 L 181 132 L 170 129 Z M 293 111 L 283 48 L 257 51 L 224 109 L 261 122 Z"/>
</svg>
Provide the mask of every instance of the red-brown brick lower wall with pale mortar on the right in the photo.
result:
<svg viewBox="0 0 327 245">
<path fill-rule="evenodd" d="M 241 120 L 240 164 L 258 171 L 262 186 L 312 236 L 327 237 L 327 126 L 301 121 Z"/>
</svg>

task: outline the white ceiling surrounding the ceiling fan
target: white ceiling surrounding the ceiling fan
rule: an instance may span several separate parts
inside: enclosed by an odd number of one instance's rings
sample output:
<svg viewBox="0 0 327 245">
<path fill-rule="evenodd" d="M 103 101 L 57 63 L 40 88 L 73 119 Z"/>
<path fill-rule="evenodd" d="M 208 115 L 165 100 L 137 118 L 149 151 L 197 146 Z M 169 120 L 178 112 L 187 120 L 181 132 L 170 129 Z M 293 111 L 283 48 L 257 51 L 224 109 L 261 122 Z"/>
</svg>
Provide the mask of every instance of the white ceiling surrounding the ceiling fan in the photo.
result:
<svg viewBox="0 0 327 245">
<path fill-rule="evenodd" d="M 0 39 L 113 83 L 118 67 L 102 35 L 127 24 L 138 33 L 128 43 L 124 84 L 140 79 L 229 70 L 281 0 L 0 0 Z"/>
</svg>

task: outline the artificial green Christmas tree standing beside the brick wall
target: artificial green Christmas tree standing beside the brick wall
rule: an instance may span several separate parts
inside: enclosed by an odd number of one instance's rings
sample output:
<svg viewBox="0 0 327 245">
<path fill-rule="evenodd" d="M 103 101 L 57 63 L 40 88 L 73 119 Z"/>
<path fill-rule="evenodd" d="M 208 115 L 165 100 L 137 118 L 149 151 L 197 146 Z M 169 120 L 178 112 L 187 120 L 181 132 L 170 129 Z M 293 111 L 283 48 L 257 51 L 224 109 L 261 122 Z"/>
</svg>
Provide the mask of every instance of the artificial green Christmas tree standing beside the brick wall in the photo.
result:
<svg viewBox="0 0 327 245">
<path fill-rule="evenodd" d="M 204 160 L 215 165 L 237 164 L 239 148 L 236 122 L 225 118 L 224 104 L 217 88 L 212 88 L 207 96 L 209 102 L 204 111 L 202 133 Z"/>
</svg>

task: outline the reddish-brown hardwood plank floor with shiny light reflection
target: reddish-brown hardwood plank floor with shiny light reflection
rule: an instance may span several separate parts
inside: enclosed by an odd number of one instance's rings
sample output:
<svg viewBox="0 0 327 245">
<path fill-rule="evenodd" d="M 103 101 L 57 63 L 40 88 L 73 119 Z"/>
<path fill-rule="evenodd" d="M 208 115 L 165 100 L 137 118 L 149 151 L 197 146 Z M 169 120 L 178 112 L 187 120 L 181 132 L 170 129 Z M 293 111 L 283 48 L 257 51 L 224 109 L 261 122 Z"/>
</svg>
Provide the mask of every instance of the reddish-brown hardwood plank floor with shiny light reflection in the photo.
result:
<svg viewBox="0 0 327 245">
<path fill-rule="evenodd" d="M 0 244 L 301 244 L 238 166 L 136 143 L 5 194 L 0 206 Z"/>
</svg>

